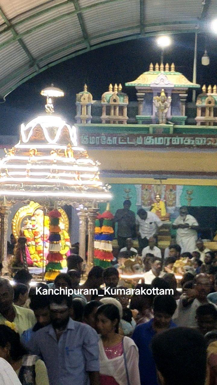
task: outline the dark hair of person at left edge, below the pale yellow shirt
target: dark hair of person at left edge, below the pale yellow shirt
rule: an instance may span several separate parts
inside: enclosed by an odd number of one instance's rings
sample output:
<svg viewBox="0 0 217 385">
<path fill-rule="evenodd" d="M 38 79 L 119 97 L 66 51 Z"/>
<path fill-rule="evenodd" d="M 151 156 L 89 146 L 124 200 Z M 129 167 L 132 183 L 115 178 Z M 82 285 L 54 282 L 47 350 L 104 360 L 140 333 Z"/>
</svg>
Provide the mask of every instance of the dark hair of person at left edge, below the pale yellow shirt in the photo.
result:
<svg viewBox="0 0 217 385">
<path fill-rule="evenodd" d="M 0 325 L 0 347 L 5 348 L 8 344 L 10 345 L 10 357 L 12 360 L 17 361 L 27 354 L 27 350 L 20 342 L 19 333 L 16 333 L 16 331 L 6 325 Z"/>
</svg>

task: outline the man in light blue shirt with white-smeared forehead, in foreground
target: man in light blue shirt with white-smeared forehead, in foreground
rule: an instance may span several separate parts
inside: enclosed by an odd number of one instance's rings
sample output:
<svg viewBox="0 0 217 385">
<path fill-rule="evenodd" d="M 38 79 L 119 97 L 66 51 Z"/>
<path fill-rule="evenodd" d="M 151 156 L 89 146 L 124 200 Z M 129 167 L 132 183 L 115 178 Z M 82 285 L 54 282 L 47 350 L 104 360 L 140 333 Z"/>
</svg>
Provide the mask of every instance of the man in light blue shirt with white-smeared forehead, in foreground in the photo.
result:
<svg viewBox="0 0 217 385">
<path fill-rule="evenodd" d="M 44 361 L 50 385 L 100 385 L 98 335 L 70 318 L 71 303 L 71 296 L 51 297 L 51 325 L 36 331 L 31 353 Z"/>
</svg>

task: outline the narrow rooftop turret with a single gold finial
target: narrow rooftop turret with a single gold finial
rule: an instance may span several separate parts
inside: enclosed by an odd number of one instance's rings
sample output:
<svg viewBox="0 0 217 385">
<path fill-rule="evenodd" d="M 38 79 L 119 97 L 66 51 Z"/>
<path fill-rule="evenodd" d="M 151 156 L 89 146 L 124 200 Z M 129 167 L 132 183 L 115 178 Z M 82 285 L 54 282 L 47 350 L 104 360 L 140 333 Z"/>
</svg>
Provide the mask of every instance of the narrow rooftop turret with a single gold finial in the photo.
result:
<svg viewBox="0 0 217 385">
<path fill-rule="evenodd" d="M 76 106 L 77 114 L 75 116 L 77 123 L 91 123 L 91 106 L 93 102 L 93 97 L 90 92 L 87 90 L 87 85 L 84 85 L 84 90 L 76 94 Z"/>
</svg>

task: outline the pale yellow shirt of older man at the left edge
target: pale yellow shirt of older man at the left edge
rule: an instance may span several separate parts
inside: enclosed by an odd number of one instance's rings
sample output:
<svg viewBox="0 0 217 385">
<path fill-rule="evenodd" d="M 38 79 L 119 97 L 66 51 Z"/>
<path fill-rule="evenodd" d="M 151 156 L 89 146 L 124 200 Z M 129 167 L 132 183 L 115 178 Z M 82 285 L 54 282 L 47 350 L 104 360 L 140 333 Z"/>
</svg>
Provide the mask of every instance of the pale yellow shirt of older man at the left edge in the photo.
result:
<svg viewBox="0 0 217 385">
<path fill-rule="evenodd" d="M 31 309 L 21 308 L 20 306 L 14 304 L 13 308 L 15 311 L 15 318 L 13 322 L 16 325 L 19 335 L 22 335 L 25 330 L 32 328 L 35 325 L 36 317 Z M 0 325 L 5 324 L 5 321 L 7 321 L 6 318 L 0 314 Z"/>
</svg>

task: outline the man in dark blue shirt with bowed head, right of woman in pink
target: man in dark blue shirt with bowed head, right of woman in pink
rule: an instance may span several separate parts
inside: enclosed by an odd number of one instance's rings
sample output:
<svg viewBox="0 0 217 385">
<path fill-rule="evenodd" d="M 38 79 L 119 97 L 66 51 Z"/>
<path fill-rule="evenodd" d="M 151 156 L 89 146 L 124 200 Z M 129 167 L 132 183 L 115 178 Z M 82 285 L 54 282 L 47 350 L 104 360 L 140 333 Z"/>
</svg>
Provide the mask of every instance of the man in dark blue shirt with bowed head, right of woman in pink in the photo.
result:
<svg viewBox="0 0 217 385">
<path fill-rule="evenodd" d="M 153 320 L 138 325 L 132 339 L 139 349 L 139 373 L 141 385 L 158 385 L 156 367 L 151 352 L 151 341 L 156 335 L 168 328 L 176 327 L 171 321 L 176 310 L 176 301 L 171 295 L 159 295 L 154 298 Z"/>
</svg>

